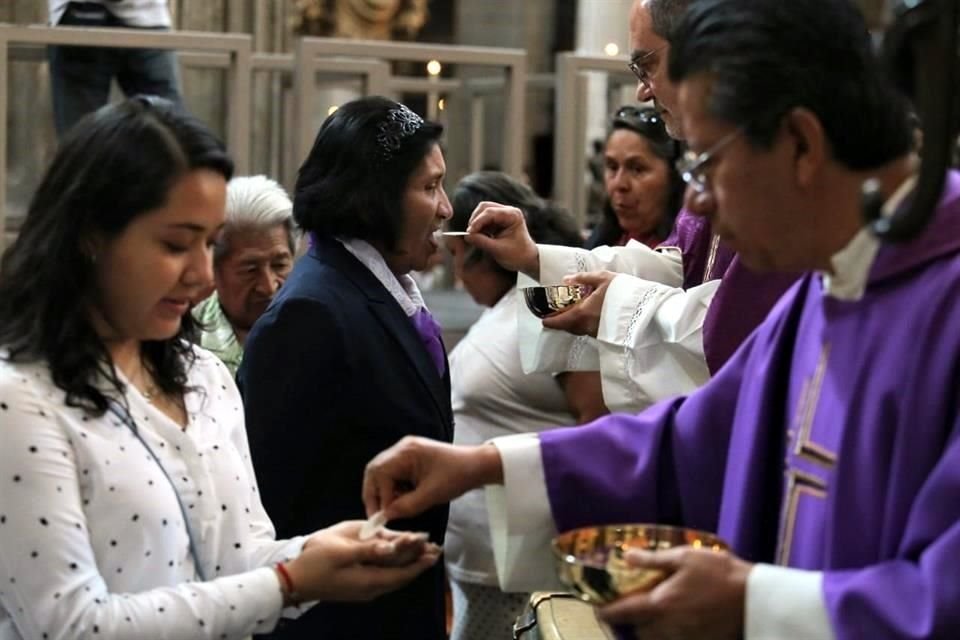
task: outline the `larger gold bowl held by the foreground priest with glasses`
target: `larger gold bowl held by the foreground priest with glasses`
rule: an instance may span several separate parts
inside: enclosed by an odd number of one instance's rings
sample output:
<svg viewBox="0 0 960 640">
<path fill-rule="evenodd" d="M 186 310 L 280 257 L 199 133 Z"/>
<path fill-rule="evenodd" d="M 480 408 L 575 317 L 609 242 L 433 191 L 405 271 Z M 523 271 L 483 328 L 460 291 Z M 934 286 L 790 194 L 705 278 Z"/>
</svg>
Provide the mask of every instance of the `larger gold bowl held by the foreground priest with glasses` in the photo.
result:
<svg viewBox="0 0 960 640">
<path fill-rule="evenodd" d="M 684 545 L 713 551 L 729 549 L 712 533 L 655 524 L 584 527 L 562 533 L 552 543 L 560 581 L 592 604 L 649 591 L 667 577 L 663 571 L 629 566 L 624 557 L 628 550 L 660 551 Z"/>
</svg>

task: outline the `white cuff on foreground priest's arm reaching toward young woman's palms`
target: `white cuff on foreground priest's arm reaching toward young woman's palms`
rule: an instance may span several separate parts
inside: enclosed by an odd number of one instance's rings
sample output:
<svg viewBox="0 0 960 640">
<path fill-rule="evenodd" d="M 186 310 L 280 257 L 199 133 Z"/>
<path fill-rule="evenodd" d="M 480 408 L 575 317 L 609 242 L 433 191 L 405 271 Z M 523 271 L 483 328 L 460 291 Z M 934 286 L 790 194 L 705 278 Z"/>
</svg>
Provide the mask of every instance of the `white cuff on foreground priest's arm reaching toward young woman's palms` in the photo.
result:
<svg viewBox="0 0 960 640">
<path fill-rule="evenodd" d="M 560 589 L 550 551 L 557 530 L 547 496 L 540 439 L 525 433 L 491 442 L 503 461 L 503 485 L 486 488 L 500 589 Z"/>
</svg>

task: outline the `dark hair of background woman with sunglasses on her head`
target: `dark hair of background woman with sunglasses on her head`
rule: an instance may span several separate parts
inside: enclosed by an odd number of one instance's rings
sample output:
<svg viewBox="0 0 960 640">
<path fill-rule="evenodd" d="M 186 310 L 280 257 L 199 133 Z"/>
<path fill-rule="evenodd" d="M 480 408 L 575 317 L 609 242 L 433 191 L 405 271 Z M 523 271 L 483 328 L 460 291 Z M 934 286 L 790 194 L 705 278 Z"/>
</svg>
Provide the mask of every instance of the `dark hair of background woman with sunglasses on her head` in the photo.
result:
<svg viewBox="0 0 960 640">
<path fill-rule="evenodd" d="M 621 129 L 632 131 L 646 140 L 653 154 L 667 164 L 667 177 L 669 179 L 667 188 L 669 192 L 667 194 L 666 207 L 663 215 L 660 216 L 660 222 L 657 224 L 656 229 L 657 237 L 664 239 L 670 235 L 670 230 L 673 228 L 673 221 L 676 219 L 677 213 L 680 211 L 680 206 L 683 203 L 683 178 L 680 177 L 680 174 L 674 166 L 680 155 L 680 144 L 670 137 L 664 125 L 663 118 L 661 118 L 657 110 L 652 107 L 641 108 L 626 105 L 617 109 L 616 113 L 614 113 L 610 119 L 607 140 L 610 140 L 610 136 L 612 136 L 615 131 Z M 617 220 L 617 214 L 610 205 L 610 197 L 607 196 L 603 205 L 603 217 L 597 224 L 596 229 L 593 230 L 593 233 L 590 234 L 587 247 L 592 249 L 594 247 L 616 244 L 617 241 L 623 237 L 623 234 L 623 227 L 620 226 L 620 221 Z"/>
</svg>

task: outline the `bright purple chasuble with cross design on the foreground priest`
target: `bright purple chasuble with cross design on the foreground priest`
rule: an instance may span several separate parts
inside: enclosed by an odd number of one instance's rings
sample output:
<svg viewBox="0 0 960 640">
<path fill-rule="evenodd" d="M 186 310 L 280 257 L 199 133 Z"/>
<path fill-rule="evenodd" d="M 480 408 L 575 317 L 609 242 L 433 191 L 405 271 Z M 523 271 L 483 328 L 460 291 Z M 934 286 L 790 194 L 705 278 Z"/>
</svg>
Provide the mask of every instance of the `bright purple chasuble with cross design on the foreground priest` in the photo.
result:
<svg viewBox="0 0 960 640">
<path fill-rule="evenodd" d="M 694 394 L 540 439 L 561 531 L 716 531 L 824 572 L 839 640 L 960 638 L 960 176 L 861 300 L 806 275 Z"/>
</svg>

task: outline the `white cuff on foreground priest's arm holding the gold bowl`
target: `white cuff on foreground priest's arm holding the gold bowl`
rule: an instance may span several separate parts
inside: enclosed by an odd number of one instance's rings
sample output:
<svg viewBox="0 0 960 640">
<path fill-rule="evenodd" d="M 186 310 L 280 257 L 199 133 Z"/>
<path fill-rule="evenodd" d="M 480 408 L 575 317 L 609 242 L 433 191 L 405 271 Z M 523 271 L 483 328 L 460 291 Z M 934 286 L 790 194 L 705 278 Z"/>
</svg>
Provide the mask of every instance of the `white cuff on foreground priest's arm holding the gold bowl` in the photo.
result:
<svg viewBox="0 0 960 640">
<path fill-rule="evenodd" d="M 756 564 L 746 600 L 744 640 L 834 640 L 820 571 Z"/>
</svg>

